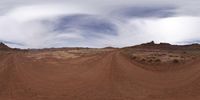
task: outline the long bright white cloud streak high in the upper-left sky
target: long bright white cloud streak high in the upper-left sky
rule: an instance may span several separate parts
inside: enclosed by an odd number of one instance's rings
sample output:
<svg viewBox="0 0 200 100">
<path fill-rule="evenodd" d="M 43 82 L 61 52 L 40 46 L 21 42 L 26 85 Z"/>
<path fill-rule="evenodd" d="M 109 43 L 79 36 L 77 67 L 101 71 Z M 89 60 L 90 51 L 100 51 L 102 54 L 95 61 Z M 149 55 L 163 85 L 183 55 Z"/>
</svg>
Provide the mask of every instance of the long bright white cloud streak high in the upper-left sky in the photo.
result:
<svg viewBox="0 0 200 100">
<path fill-rule="evenodd" d="M 75 5 L 63 4 L 44 4 L 44 5 L 28 5 L 17 7 L 9 11 L 5 16 L 16 21 L 32 21 L 38 19 L 52 18 L 56 16 L 91 13 L 92 11 Z"/>
</svg>

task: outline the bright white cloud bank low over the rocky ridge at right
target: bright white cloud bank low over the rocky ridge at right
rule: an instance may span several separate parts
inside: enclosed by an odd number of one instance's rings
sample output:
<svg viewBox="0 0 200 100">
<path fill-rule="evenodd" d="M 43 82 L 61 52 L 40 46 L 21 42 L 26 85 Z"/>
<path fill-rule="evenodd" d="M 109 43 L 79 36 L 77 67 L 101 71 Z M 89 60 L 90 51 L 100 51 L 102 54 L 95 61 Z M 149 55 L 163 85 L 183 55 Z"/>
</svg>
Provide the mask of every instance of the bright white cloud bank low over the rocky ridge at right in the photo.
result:
<svg viewBox="0 0 200 100">
<path fill-rule="evenodd" d="M 200 39 L 200 18 L 191 16 L 131 19 L 118 23 L 119 35 L 100 41 L 103 46 L 124 47 L 154 40 L 179 44 Z M 102 46 L 101 45 L 101 46 Z"/>
</svg>

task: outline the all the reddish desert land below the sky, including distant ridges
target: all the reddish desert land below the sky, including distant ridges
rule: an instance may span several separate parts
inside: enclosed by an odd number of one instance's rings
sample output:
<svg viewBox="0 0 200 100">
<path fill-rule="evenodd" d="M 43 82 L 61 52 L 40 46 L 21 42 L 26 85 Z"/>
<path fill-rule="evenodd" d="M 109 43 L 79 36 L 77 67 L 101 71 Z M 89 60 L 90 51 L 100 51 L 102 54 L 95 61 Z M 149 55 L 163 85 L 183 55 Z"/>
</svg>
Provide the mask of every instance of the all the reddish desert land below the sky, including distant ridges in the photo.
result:
<svg viewBox="0 0 200 100">
<path fill-rule="evenodd" d="M 11 49 L 0 100 L 200 100 L 200 45 Z"/>
</svg>

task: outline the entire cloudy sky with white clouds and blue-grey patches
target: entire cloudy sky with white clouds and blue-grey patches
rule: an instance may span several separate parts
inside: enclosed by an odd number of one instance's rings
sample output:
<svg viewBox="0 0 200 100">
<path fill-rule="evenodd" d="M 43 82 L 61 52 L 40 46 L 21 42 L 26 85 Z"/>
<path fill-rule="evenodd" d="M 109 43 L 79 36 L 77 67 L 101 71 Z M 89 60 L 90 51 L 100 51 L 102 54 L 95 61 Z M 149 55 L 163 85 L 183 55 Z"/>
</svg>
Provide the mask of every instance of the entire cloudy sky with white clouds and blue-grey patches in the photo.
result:
<svg viewBox="0 0 200 100">
<path fill-rule="evenodd" d="M 0 41 L 13 48 L 200 42 L 200 0 L 1 0 Z"/>
</svg>

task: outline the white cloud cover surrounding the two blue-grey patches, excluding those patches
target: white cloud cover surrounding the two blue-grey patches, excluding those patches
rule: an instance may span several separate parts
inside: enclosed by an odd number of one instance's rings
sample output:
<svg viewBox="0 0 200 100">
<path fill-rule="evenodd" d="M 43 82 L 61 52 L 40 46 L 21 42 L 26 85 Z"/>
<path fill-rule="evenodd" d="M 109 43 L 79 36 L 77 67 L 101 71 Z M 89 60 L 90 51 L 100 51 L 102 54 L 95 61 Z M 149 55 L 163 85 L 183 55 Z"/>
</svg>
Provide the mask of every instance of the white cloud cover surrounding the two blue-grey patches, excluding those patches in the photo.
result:
<svg viewBox="0 0 200 100">
<path fill-rule="evenodd" d="M 117 2 L 115 0 L 2 0 L 0 1 L 0 41 L 23 44 L 23 46 L 11 44 L 13 47 L 43 48 L 121 47 L 151 40 L 170 43 L 198 40 L 200 39 L 199 4 L 200 1 L 197 0 L 192 2 L 190 0 L 176 2 L 174 0 L 118 0 Z M 173 10 L 176 15 L 163 18 L 125 19 L 111 14 L 113 10 L 127 5 L 144 8 L 146 6 L 162 8 L 169 5 L 175 7 Z M 117 33 L 116 35 L 95 33 L 100 34 L 101 38 L 90 38 L 83 36 L 83 31 L 78 27 L 75 27 L 73 32 L 53 31 L 53 24 L 60 17 L 74 14 L 105 18 L 117 26 Z M 45 24 L 44 20 L 50 24 Z"/>
</svg>

